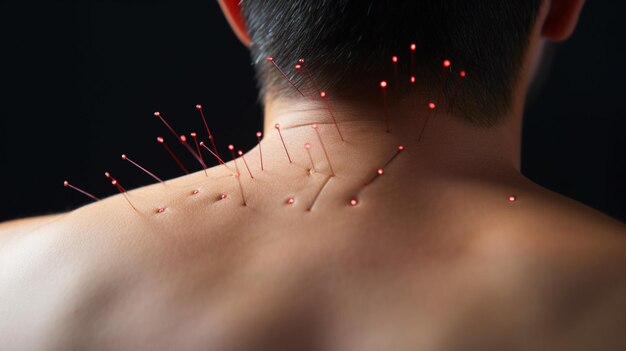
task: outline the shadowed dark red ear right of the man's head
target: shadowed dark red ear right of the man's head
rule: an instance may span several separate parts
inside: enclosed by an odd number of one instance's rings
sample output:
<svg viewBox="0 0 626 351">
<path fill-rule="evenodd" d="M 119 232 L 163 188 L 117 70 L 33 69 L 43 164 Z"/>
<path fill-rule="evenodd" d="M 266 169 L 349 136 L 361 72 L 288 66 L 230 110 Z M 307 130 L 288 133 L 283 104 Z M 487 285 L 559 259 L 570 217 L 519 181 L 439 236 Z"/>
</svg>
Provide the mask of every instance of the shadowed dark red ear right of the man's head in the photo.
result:
<svg viewBox="0 0 626 351">
<path fill-rule="evenodd" d="M 578 15 L 585 0 L 548 0 L 548 15 L 543 22 L 541 34 L 552 41 L 569 38 L 578 23 Z"/>
</svg>

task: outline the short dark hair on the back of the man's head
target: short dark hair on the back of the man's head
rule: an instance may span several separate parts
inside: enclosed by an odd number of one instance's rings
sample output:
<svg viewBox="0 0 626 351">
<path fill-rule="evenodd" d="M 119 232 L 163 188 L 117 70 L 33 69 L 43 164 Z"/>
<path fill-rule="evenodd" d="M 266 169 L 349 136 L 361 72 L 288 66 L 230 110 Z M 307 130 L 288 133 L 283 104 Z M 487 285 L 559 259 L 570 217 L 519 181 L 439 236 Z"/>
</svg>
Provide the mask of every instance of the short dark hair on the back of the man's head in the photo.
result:
<svg viewBox="0 0 626 351">
<path fill-rule="evenodd" d="M 467 71 L 454 109 L 480 125 L 494 125 L 509 110 L 541 0 L 243 0 L 251 55 L 261 94 L 298 94 L 267 58 L 296 84 L 299 58 L 334 95 L 378 93 L 393 83 L 391 56 L 409 85 L 409 46 L 415 43 L 415 76 L 439 90 L 442 62 L 452 61 L 442 99 L 453 95 L 456 73 Z M 454 73 L 454 76 L 453 76 Z M 454 78 L 456 79 L 456 78 Z M 433 88 L 436 87 L 436 88 Z M 408 89 L 405 89 L 409 91 Z"/>
</svg>

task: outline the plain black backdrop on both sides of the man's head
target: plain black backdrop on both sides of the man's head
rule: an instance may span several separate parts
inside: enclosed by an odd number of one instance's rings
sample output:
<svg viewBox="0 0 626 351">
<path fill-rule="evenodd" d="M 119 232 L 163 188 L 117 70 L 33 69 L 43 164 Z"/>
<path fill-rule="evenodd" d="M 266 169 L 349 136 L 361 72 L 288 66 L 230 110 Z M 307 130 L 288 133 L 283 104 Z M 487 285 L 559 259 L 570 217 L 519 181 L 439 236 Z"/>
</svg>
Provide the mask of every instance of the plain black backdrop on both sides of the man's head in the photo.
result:
<svg viewBox="0 0 626 351">
<path fill-rule="evenodd" d="M 156 110 L 181 133 L 203 132 L 194 108 L 201 103 L 210 106 L 223 151 L 256 143 L 262 120 L 253 69 L 215 1 L 2 7 L 0 220 L 86 203 L 63 187 L 65 179 L 96 196 L 115 192 L 106 170 L 128 188 L 150 183 L 121 153 L 162 177 L 179 175 L 156 143 L 157 135 L 169 137 Z M 574 37 L 556 50 L 526 113 L 522 165 L 535 182 L 622 221 L 625 7 L 589 1 Z"/>
</svg>

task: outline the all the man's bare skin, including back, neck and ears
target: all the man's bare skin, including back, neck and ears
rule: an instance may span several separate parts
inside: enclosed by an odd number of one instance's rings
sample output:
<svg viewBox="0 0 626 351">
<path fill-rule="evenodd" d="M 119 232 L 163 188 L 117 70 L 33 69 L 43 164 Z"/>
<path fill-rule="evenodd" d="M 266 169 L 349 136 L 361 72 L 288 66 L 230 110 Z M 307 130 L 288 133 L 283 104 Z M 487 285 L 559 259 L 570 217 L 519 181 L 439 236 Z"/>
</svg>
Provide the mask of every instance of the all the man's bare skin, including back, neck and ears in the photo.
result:
<svg viewBox="0 0 626 351">
<path fill-rule="evenodd" d="M 231 161 L 132 190 L 137 210 L 1 224 L 0 349 L 625 349 L 625 227 L 519 172 L 530 77 L 581 7 L 544 4 L 497 127 L 398 102 L 386 133 L 380 106 L 333 100 L 341 141 L 323 104 L 269 95 L 265 170 L 258 147 L 254 179 L 237 162 L 245 206 Z M 336 176 L 309 211 L 330 174 L 311 123 Z"/>
</svg>

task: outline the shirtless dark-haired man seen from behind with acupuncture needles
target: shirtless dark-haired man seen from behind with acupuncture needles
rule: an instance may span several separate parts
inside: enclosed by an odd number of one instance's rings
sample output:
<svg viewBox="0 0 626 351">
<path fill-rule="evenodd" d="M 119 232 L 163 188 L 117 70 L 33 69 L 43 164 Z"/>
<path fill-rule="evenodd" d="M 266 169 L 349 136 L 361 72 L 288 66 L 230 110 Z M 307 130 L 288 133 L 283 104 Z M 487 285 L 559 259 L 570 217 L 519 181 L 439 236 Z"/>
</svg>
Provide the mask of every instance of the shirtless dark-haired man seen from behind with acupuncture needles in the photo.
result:
<svg viewBox="0 0 626 351">
<path fill-rule="evenodd" d="M 0 349 L 626 348 L 624 226 L 519 172 L 526 89 L 582 0 L 221 5 L 262 144 L 2 225 Z"/>
</svg>

